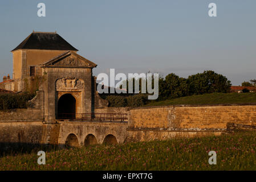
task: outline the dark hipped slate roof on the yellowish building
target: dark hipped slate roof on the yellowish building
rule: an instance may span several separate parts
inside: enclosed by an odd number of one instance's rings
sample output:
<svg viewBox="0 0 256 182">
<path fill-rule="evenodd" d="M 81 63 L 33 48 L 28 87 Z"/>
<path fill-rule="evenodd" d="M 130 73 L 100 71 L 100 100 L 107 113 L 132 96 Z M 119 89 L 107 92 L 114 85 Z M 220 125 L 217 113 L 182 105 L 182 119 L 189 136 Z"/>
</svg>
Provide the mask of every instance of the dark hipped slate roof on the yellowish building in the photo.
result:
<svg viewBox="0 0 256 182">
<path fill-rule="evenodd" d="M 12 51 L 18 49 L 47 49 L 47 50 L 67 50 L 78 51 L 71 46 L 56 32 L 32 32 L 19 46 Z"/>
</svg>

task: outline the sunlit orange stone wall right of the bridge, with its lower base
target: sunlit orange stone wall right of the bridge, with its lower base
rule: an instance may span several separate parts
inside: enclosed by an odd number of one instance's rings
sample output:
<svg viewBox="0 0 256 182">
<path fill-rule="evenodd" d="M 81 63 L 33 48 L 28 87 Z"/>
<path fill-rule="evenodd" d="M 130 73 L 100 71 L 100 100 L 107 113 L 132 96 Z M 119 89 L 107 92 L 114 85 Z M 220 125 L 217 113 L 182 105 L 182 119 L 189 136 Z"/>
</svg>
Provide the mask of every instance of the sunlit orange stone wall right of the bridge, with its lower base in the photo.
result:
<svg viewBox="0 0 256 182">
<path fill-rule="evenodd" d="M 140 107 L 128 111 L 128 140 L 220 135 L 227 123 L 256 125 L 256 105 Z"/>
</svg>

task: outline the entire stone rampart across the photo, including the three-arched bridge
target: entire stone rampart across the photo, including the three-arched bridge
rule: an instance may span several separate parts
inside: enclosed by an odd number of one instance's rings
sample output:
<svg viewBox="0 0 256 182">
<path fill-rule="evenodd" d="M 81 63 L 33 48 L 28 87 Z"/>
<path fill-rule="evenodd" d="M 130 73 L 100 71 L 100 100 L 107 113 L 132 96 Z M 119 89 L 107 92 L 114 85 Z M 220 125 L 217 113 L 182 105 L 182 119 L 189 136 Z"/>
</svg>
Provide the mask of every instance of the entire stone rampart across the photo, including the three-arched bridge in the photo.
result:
<svg viewBox="0 0 256 182">
<path fill-rule="evenodd" d="M 64 146 L 75 141 L 79 146 L 86 143 L 104 143 L 105 138 L 115 137 L 117 143 L 144 140 L 164 140 L 176 137 L 202 137 L 220 135 L 231 127 L 256 127 L 256 105 L 198 105 L 95 109 L 100 113 L 128 112 L 128 123 L 124 122 L 78 122 L 61 121 L 43 123 L 39 112 L 38 93 L 28 109 L 1 111 L 0 142 L 40 143 Z M 10 114 L 13 112 L 13 114 Z M 39 112 L 39 113 L 37 113 Z M 29 120 L 30 119 L 30 120 Z M 32 121 L 34 119 L 35 121 Z M 36 122 L 36 119 L 42 121 Z M 95 138 L 95 139 L 92 139 Z M 109 139 L 110 139 L 109 138 Z M 91 139 L 91 140 L 90 140 Z"/>
</svg>

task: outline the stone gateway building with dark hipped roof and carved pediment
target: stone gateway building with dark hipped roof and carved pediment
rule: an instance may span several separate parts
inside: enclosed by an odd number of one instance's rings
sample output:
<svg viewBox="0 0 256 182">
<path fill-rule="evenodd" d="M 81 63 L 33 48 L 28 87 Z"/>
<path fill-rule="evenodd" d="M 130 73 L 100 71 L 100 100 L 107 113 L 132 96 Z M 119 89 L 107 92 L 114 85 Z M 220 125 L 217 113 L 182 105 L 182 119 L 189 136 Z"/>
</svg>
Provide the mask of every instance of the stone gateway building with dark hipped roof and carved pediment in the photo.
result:
<svg viewBox="0 0 256 182">
<path fill-rule="evenodd" d="M 56 32 L 32 32 L 13 53 L 13 80 L 5 88 L 13 92 L 40 90 L 44 96 L 44 120 L 81 118 L 107 106 L 96 92 L 92 69 L 97 65 L 78 55 Z M 82 115 L 83 113 L 83 115 Z"/>
</svg>

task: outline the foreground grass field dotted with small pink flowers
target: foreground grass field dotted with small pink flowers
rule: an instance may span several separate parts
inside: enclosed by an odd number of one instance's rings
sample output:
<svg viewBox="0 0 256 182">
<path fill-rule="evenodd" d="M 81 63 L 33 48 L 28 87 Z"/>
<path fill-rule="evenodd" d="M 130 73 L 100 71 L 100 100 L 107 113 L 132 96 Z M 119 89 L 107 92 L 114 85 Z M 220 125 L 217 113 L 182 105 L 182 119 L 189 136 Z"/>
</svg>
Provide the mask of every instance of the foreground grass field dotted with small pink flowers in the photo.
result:
<svg viewBox="0 0 256 182">
<path fill-rule="evenodd" d="M 46 152 L 39 156 L 17 154 L 0 158 L 0 170 L 255 170 L 255 132 L 218 137 L 180 138 L 165 141 L 96 145 Z M 209 151 L 217 152 L 210 165 Z"/>
</svg>

